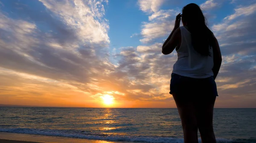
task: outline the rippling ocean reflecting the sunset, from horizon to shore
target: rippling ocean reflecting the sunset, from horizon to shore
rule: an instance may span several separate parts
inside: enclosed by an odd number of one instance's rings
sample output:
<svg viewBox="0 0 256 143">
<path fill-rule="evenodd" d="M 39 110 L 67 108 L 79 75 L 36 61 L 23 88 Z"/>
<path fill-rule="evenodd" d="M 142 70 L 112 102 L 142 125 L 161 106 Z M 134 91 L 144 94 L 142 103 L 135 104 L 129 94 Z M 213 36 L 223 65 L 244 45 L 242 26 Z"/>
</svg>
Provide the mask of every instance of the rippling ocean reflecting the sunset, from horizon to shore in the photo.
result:
<svg viewBox="0 0 256 143">
<path fill-rule="evenodd" d="M 256 143 L 256 109 L 215 109 L 214 130 L 218 143 Z M 183 142 L 178 111 L 172 108 L 0 107 L 0 132 L 109 141 Z"/>
</svg>

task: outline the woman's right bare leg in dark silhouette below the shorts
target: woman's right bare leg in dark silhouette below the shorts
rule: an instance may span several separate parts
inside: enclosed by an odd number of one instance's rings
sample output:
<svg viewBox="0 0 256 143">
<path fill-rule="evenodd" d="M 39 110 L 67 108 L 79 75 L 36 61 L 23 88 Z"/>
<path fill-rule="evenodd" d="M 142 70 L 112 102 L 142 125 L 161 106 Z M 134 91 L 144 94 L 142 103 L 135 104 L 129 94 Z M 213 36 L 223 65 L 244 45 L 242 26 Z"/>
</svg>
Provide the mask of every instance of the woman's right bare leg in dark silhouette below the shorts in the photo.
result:
<svg viewBox="0 0 256 143">
<path fill-rule="evenodd" d="M 216 143 L 212 123 L 215 99 L 216 96 L 204 95 L 197 104 L 198 129 L 202 143 Z"/>
</svg>

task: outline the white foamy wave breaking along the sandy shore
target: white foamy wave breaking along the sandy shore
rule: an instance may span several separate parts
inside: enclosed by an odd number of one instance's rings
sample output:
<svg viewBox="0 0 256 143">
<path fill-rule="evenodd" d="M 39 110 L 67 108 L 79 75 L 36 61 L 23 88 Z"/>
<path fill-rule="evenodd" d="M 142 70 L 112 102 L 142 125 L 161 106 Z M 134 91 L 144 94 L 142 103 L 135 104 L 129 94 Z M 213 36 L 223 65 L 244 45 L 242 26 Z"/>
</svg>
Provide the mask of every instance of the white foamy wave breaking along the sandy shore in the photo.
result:
<svg viewBox="0 0 256 143">
<path fill-rule="evenodd" d="M 14 129 L 0 129 L 0 132 L 12 132 L 12 133 L 23 133 L 23 134 L 34 134 L 34 135 L 49 135 L 49 136 L 60 136 L 60 137 L 76 137 L 84 139 L 94 140 L 110 140 L 110 141 L 130 141 L 130 142 L 144 142 L 144 143 L 183 143 L 183 139 L 175 137 L 152 137 L 152 136 L 125 136 L 125 135 L 85 135 L 81 134 L 80 131 L 68 132 L 64 130 L 53 130 L 53 129 L 28 129 L 28 128 L 14 128 Z M 217 139 L 217 143 L 230 143 L 232 140 Z M 201 139 L 199 139 L 201 143 Z"/>
</svg>

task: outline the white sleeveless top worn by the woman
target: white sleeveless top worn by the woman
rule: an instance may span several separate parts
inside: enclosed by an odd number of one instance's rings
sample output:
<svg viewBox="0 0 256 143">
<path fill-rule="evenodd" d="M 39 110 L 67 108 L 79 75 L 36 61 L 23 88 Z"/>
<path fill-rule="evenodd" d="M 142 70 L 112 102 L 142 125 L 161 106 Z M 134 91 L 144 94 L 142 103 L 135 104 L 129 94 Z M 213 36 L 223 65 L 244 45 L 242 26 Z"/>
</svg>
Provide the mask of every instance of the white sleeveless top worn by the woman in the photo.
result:
<svg viewBox="0 0 256 143">
<path fill-rule="evenodd" d="M 177 51 L 178 60 L 173 65 L 172 73 L 180 76 L 203 79 L 213 76 L 213 52 L 209 48 L 211 56 L 202 56 L 192 45 L 191 34 L 183 26 L 180 26 L 181 44 Z"/>
</svg>

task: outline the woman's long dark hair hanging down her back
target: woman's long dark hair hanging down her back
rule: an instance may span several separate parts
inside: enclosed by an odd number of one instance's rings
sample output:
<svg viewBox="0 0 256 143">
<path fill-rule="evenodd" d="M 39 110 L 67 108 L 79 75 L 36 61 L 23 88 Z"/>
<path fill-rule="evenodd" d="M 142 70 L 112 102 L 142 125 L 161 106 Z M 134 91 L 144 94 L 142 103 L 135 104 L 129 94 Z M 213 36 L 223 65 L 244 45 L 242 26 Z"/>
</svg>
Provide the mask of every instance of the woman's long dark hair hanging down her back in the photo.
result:
<svg viewBox="0 0 256 143">
<path fill-rule="evenodd" d="M 195 3 L 184 6 L 182 9 L 182 22 L 187 24 L 194 49 L 201 55 L 211 56 L 209 48 L 212 46 L 214 36 L 207 27 L 207 20 L 201 8 Z"/>
</svg>

